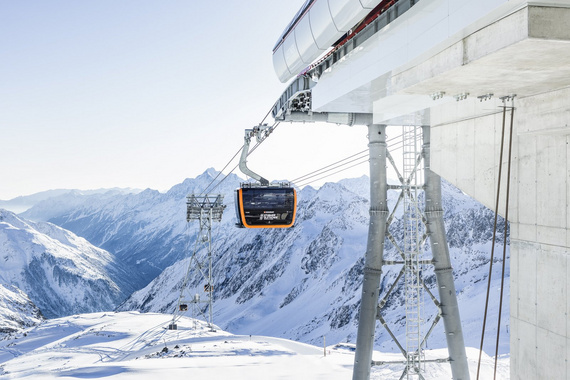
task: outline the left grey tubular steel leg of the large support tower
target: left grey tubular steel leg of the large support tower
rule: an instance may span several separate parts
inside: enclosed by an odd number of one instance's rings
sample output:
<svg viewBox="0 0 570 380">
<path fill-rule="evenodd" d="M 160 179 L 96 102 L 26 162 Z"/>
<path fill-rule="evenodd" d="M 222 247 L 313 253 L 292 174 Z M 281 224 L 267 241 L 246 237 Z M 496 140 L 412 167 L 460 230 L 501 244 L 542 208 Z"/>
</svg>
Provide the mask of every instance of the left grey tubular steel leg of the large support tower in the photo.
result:
<svg viewBox="0 0 570 380">
<path fill-rule="evenodd" d="M 368 380 L 370 378 L 380 276 L 384 260 L 386 219 L 388 218 L 386 126 L 369 125 L 368 141 L 370 152 L 370 225 L 364 260 L 364 281 L 362 283 L 362 299 L 358 317 L 353 380 Z"/>
</svg>

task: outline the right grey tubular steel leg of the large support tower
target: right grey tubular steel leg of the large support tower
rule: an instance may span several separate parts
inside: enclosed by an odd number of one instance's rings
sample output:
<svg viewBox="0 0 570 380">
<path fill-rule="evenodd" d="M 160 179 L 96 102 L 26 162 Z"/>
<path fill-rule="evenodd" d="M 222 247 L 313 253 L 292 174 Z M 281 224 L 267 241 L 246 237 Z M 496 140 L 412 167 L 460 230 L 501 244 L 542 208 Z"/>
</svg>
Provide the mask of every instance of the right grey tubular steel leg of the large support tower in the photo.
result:
<svg viewBox="0 0 570 380">
<path fill-rule="evenodd" d="M 468 380 L 469 367 L 465 353 L 463 330 L 459 306 L 453 282 L 453 269 L 449 258 L 449 248 L 445 237 L 443 209 L 441 201 L 441 177 L 430 169 L 430 127 L 423 127 L 423 155 L 425 176 L 425 215 L 427 233 L 430 238 L 433 265 L 441 302 L 443 326 L 447 339 L 447 349 L 451 360 L 451 374 L 454 380 Z"/>
</svg>

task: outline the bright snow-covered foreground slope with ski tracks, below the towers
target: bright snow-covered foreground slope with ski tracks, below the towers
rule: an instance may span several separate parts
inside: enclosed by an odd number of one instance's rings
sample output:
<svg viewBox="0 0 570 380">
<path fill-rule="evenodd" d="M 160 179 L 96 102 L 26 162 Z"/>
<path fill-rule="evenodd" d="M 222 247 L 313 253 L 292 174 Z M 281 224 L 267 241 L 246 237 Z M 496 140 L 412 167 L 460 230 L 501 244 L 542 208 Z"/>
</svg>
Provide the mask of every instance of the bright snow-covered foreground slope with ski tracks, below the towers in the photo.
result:
<svg viewBox="0 0 570 380">
<path fill-rule="evenodd" d="M 311 379 L 352 376 L 350 345 L 320 347 L 264 336 L 211 332 L 200 321 L 183 318 L 167 330 L 163 314 L 95 313 L 54 319 L 0 341 L 0 377 L 10 379 Z M 441 350 L 426 358 L 441 357 Z M 468 350 L 472 378 L 478 352 Z M 399 360 L 374 352 L 374 360 Z M 497 379 L 508 378 L 508 359 L 498 363 Z M 371 380 L 397 380 L 402 365 L 372 369 Z M 483 355 L 483 378 L 493 362 Z M 449 364 L 426 364 L 424 378 L 451 378 Z"/>
</svg>

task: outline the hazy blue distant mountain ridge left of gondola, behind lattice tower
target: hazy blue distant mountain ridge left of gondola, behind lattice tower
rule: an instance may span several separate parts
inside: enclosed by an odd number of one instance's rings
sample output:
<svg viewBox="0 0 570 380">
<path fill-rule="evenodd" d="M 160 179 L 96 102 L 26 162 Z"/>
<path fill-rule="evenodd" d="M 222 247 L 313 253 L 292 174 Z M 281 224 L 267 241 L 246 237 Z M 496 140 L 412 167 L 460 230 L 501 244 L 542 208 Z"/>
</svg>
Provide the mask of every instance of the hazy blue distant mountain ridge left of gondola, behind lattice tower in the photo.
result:
<svg viewBox="0 0 570 380">
<path fill-rule="evenodd" d="M 128 281 L 139 289 L 187 255 L 188 234 L 195 228 L 186 223 L 186 196 L 201 193 L 217 174 L 208 169 L 166 193 L 146 189 L 137 194 L 64 194 L 38 203 L 22 216 L 57 224 L 113 253 L 130 268 Z M 226 200 L 233 202 L 239 183 L 231 175 L 216 192 L 228 194 Z"/>
</svg>

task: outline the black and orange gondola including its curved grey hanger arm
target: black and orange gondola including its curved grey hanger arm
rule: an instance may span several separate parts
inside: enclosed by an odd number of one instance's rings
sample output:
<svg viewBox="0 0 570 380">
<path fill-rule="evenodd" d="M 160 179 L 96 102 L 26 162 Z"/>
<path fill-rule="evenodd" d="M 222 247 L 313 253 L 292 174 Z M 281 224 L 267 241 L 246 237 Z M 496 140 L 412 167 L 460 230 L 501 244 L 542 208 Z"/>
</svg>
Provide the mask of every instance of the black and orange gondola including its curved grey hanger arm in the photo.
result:
<svg viewBox="0 0 570 380">
<path fill-rule="evenodd" d="M 288 228 L 295 223 L 297 192 L 289 183 L 269 184 L 269 181 L 247 167 L 247 155 L 251 137 L 258 143 L 271 133 L 266 125 L 246 129 L 239 163 L 240 170 L 259 181 L 242 183 L 235 191 L 236 226 L 245 228 Z"/>
</svg>

